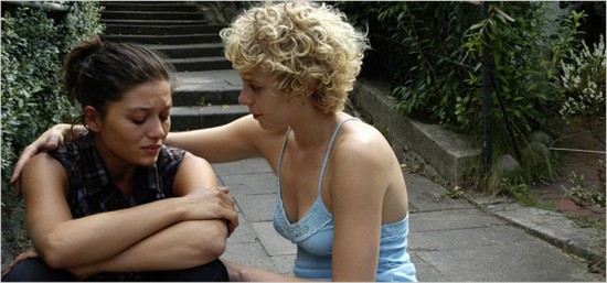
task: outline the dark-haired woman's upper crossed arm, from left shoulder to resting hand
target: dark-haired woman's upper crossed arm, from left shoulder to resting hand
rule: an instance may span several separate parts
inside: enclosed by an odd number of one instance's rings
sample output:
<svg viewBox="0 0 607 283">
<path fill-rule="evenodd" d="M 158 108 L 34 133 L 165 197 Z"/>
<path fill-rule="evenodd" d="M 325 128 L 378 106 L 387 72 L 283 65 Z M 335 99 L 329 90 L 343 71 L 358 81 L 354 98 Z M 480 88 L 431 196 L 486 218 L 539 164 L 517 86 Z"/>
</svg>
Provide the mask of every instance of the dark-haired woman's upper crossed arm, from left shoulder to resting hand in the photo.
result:
<svg viewBox="0 0 607 283">
<path fill-rule="evenodd" d="M 195 189 L 184 197 L 72 219 L 65 200 L 66 184 L 65 171 L 47 154 L 36 155 L 25 166 L 23 189 L 28 227 L 36 251 L 54 268 L 106 261 L 178 222 L 234 221 L 236 217 L 226 194 L 216 189 Z M 223 231 L 226 232 L 225 226 Z"/>
</svg>

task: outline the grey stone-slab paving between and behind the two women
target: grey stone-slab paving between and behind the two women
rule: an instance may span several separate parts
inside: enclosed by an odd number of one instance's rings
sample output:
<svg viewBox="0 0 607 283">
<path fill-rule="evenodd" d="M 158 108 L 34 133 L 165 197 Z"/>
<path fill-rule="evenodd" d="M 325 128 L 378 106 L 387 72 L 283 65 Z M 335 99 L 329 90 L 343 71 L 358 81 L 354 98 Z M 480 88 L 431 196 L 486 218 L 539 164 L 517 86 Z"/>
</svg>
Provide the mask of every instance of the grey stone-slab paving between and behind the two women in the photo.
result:
<svg viewBox="0 0 607 283">
<path fill-rule="evenodd" d="M 233 72 L 183 75 L 184 85 L 241 84 Z M 277 192 L 268 163 L 253 159 L 213 166 L 241 213 L 241 226 L 228 239 L 224 258 L 291 274 L 296 247 L 271 225 Z M 403 174 L 412 210 L 409 253 L 419 281 L 605 282 L 605 231 L 508 199 L 482 195 L 452 199 L 428 178 Z M 588 272 L 592 264 L 571 254 L 599 259 L 603 274 Z"/>
</svg>

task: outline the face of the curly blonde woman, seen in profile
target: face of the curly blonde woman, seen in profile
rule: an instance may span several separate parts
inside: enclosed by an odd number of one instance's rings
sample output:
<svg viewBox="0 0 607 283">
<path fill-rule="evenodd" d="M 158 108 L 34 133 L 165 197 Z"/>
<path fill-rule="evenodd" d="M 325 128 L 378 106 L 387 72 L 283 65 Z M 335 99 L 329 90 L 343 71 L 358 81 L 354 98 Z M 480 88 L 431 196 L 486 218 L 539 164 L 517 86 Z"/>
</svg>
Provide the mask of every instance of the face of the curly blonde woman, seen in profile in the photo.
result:
<svg viewBox="0 0 607 283">
<path fill-rule="evenodd" d="M 284 129 L 296 111 L 296 102 L 287 95 L 271 87 L 269 72 L 255 69 L 251 77 L 244 77 L 243 89 L 238 95 L 238 102 L 248 107 L 253 118 L 266 130 Z"/>
</svg>

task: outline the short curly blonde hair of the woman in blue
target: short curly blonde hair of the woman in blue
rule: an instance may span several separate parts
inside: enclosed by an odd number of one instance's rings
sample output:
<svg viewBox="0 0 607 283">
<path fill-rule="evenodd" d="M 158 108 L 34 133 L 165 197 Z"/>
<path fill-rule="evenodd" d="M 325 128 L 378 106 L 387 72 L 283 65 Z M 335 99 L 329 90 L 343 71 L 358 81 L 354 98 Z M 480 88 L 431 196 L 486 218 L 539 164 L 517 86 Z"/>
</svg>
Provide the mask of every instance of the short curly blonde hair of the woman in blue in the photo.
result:
<svg viewBox="0 0 607 283">
<path fill-rule="evenodd" d="M 296 99 L 311 88 L 324 113 L 343 109 L 369 48 L 345 14 L 309 1 L 252 8 L 220 35 L 226 58 L 243 76 L 255 68 L 270 72 L 273 86 Z"/>
</svg>

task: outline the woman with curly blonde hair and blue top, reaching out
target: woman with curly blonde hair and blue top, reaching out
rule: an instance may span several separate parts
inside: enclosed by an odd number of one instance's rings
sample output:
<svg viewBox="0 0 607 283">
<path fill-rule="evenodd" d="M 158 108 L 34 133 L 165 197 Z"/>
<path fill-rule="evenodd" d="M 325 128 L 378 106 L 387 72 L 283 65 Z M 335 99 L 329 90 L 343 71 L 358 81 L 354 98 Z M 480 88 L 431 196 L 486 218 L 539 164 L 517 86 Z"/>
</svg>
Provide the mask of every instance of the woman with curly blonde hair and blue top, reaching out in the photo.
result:
<svg viewBox="0 0 607 283">
<path fill-rule="evenodd" d="M 221 36 L 251 115 L 170 133 L 167 143 L 210 162 L 269 162 L 278 181 L 274 226 L 297 244 L 297 279 L 415 281 L 398 161 L 376 129 L 342 111 L 365 36 L 343 13 L 309 1 L 252 8 Z M 55 129 L 33 146 L 61 139 Z M 232 281 L 296 280 L 224 263 Z"/>
</svg>

